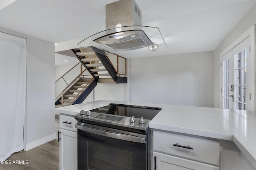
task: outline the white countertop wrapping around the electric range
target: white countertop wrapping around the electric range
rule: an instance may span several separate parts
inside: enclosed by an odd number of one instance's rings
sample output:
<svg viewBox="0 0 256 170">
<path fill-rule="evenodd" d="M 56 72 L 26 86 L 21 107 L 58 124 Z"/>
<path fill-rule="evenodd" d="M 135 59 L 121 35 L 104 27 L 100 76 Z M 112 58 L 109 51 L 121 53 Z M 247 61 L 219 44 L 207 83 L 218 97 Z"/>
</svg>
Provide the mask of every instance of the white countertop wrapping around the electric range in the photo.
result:
<svg viewBox="0 0 256 170">
<path fill-rule="evenodd" d="M 256 113 L 252 111 L 106 100 L 55 108 L 53 111 L 76 115 L 82 109 L 87 111 L 110 103 L 162 107 L 150 121 L 150 128 L 233 141 L 256 167 Z"/>
</svg>

